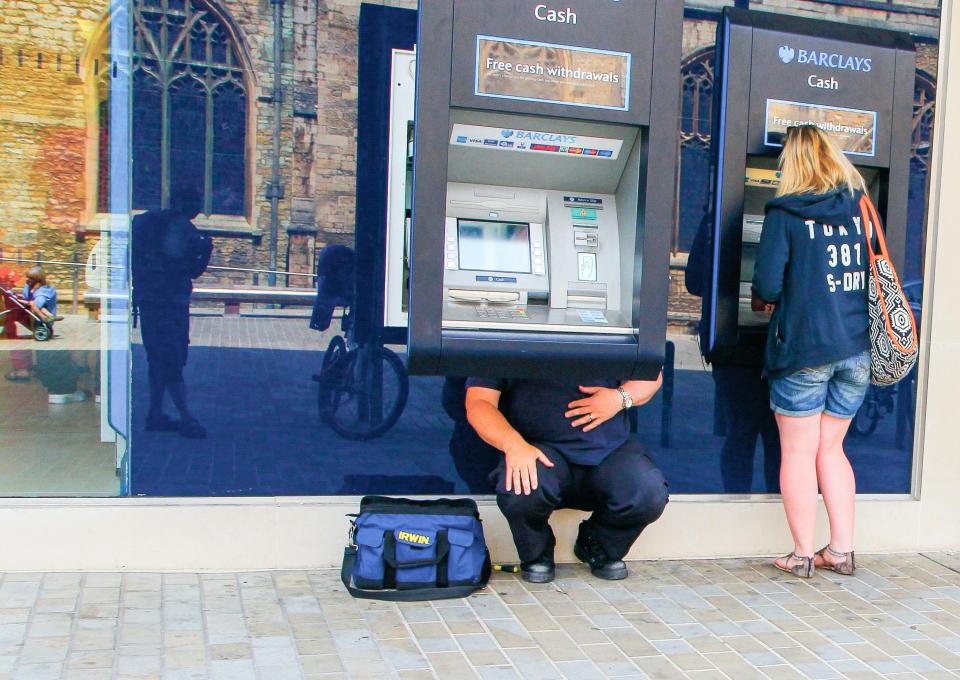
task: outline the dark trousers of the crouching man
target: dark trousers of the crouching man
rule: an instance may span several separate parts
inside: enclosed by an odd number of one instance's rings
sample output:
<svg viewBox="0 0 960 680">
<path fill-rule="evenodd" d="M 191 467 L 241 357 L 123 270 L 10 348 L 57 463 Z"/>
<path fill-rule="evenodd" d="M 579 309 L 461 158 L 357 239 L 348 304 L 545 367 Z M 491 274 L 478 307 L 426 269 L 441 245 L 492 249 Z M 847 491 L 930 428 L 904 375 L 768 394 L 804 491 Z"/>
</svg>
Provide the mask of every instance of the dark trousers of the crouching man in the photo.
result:
<svg viewBox="0 0 960 680">
<path fill-rule="evenodd" d="M 554 544 L 549 520 L 558 508 L 593 511 L 588 526 L 610 559 L 619 560 L 667 505 L 667 483 L 643 446 L 628 440 L 599 465 L 573 465 L 556 449 L 533 442 L 554 464 L 537 463 L 537 489 L 507 492 L 506 464 L 497 468 L 497 505 L 510 524 L 520 560 L 537 559 Z"/>
</svg>

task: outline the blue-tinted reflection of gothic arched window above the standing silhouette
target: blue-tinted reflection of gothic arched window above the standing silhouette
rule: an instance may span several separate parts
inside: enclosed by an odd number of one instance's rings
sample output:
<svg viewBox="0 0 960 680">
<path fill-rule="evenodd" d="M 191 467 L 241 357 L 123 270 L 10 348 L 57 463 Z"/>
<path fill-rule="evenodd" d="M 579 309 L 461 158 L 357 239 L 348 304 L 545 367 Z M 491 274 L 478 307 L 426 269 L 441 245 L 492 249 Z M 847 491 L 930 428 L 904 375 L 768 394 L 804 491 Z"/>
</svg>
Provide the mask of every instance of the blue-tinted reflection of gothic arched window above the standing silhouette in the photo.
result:
<svg viewBox="0 0 960 680">
<path fill-rule="evenodd" d="M 202 0 L 134 8 L 134 209 L 189 187 L 206 214 L 243 214 L 248 91 L 226 23 Z"/>
</svg>

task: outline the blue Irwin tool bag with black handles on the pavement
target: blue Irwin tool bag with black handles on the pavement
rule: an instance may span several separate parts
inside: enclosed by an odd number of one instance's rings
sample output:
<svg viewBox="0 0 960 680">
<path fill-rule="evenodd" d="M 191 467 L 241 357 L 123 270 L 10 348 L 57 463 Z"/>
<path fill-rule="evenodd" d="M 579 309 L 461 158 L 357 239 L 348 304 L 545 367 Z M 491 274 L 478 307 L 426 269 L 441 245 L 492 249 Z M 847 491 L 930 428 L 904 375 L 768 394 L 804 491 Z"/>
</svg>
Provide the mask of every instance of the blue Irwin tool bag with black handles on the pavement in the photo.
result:
<svg viewBox="0 0 960 680">
<path fill-rule="evenodd" d="M 466 597 L 490 578 L 476 502 L 365 496 L 340 578 L 351 595 L 373 600 Z"/>
</svg>

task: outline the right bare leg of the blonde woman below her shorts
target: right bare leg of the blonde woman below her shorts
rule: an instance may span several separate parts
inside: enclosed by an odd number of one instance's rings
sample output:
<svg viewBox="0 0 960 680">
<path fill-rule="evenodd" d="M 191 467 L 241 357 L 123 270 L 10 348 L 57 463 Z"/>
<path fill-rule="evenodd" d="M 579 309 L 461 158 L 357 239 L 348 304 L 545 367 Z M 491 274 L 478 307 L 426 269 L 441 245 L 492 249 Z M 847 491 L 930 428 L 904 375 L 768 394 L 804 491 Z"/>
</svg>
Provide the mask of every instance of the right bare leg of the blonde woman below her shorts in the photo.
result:
<svg viewBox="0 0 960 680">
<path fill-rule="evenodd" d="M 843 451 L 849 418 L 823 414 L 820 420 L 820 448 L 817 451 L 817 479 L 830 518 L 830 547 L 837 552 L 853 550 L 857 482 Z"/>
</svg>

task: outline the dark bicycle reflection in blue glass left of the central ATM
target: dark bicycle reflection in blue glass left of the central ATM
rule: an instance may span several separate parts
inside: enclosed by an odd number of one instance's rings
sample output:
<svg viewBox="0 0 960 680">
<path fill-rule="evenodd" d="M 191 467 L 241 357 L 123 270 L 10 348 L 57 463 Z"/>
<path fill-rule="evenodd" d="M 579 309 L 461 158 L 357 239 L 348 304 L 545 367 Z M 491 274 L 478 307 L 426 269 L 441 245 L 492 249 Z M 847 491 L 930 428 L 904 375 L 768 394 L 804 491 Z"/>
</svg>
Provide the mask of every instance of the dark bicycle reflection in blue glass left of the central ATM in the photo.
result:
<svg viewBox="0 0 960 680">
<path fill-rule="evenodd" d="M 327 246 L 317 257 L 317 300 L 310 328 L 326 331 L 342 308 L 340 328 L 323 355 L 317 405 L 320 419 L 345 439 L 375 439 L 392 428 L 410 393 L 400 358 L 380 343 L 354 339 L 352 313 L 356 255 L 346 246 Z"/>
</svg>

